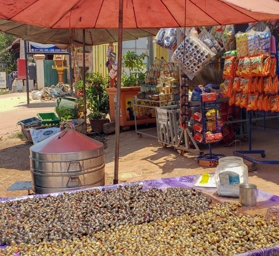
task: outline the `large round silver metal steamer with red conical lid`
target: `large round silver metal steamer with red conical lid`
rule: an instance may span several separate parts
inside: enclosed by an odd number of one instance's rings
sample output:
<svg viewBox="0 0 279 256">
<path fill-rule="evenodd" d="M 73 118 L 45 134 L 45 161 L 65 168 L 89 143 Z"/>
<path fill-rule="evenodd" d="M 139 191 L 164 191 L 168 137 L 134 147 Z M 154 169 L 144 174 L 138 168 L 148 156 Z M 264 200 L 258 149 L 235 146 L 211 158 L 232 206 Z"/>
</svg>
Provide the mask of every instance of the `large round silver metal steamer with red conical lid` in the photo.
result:
<svg viewBox="0 0 279 256">
<path fill-rule="evenodd" d="M 63 129 L 64 125 L 70 128 Z M 61 131 L 30 147 L 32 188 L 36 193 L 104 185 L 104 145 L 74 130 Z"/>
</svg>

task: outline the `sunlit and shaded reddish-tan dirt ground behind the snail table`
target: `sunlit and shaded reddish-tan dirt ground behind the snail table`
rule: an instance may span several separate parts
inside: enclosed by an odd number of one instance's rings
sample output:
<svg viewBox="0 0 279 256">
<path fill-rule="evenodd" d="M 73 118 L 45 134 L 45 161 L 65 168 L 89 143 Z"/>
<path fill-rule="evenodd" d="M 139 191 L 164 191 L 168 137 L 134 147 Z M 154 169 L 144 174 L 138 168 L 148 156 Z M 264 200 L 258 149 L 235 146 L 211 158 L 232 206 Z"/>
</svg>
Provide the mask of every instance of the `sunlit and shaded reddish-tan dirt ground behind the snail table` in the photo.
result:
<svg viewBox="0 0 279 256">
<path fill-rule="evenodd" d="M 0 197 L 26 195 L 27 190 L 6 191 L 16 181 L 31 180 L 29 171 L 29 147 L 31 142 L 19 136 L 20 125 L 16 123 L 40 112 L 53 112 L 54 106 L 27 107 L 26 93 L 0 95 Z M 114 134 L 102 134 L 106 139 L 105 183 L 112 184 L 114 177 Z M 248 149 L 248 142 L 237 144 L 237 149 Z M 265 160 L 279 160 L 278 130 L 261 127 L 253 130 L 253 149 L 265 149 Z M 207 147 L 202 148 L 208 152 Z M 215 146 L 213 152 L 233 155 L 232 147 Z M 179 155 L 172 146 L 163 148 L 156 138 L 147 135 L 138 137 L 134 129 L 120 133 L 119 182 L 150 180 L 203 172 L 215 168 L 202 167 L 195 160 L 196 154 Z M 256 155 L 255 155 L 256 156 Z M 258 157 L 258 156 L 257 156 Z M 259 156 L 259 158 L 261 158 Z M 249 163 L 249 162 L 247 162 Z M 258 169 L 249 172 L 249 182 L 258 188 L 279 195 L 279 165 L 258 164 Z"/>
</svg>

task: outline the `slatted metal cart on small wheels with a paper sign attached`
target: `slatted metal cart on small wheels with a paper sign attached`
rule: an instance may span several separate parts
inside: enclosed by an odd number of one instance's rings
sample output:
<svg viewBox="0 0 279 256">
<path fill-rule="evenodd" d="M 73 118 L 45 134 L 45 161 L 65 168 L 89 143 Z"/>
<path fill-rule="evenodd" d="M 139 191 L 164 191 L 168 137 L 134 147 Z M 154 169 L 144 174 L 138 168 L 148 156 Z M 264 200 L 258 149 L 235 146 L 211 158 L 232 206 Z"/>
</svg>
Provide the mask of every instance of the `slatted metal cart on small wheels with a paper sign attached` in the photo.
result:
<svg viewBox="0 0 279 256">
<path fill-rule="evenodd" d="M 189 128 L 179 128 L 179 105 L 156 107 L 158 141 L 163 147 L 173 146 L 180 155 L 185 151 L 202 154 Z M 193 143 L 195 148 L 190 147 Z"/>
</svg>

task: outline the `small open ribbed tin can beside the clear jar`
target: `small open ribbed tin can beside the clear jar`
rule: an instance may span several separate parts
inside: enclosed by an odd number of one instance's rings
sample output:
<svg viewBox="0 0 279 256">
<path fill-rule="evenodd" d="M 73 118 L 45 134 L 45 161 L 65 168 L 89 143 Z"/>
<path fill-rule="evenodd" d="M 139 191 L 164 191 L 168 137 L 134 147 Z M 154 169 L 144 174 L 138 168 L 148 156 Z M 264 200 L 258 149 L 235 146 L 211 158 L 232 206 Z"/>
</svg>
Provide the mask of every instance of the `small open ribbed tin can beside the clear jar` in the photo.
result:
<svg viewBox="0 0 279 256">
<path fill-rule="evenodd" d="M 240 184 L 239 200 L 243 206 L 255 206 L 257 204 L 257 186 L 248 183 Z"/>
</svg>

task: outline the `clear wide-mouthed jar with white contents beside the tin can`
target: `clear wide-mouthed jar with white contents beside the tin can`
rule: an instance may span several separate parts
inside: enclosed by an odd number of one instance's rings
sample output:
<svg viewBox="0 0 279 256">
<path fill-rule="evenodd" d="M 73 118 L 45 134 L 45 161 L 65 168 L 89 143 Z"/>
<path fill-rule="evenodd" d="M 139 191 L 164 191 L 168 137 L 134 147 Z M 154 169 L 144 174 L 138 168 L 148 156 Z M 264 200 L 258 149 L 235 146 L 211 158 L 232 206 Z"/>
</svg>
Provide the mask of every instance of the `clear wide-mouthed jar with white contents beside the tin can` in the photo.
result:
<svg viewBox="0 0 279 256">
<path fill-rule="evenodd" d="M 248 167 L 239 156 L 225 156 L 219 159 L 215 170 L 217 193 L 239 197 L 239 185 L 248 183 Z"/>
</svg>

